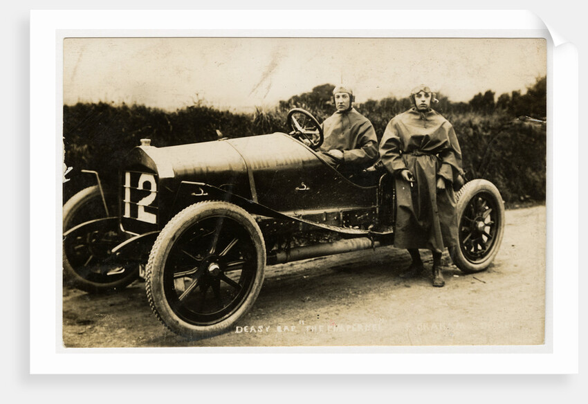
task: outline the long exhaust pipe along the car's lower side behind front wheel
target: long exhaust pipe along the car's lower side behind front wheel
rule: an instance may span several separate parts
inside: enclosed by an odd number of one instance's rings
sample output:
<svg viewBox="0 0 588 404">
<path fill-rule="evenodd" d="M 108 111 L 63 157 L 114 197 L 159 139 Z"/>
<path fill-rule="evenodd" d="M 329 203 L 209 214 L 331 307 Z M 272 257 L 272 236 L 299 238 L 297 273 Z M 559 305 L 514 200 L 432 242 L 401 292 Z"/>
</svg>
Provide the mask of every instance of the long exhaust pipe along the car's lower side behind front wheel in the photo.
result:
<svg viewBox="0 0 588 404">
<path fill-rule="evenodd" d="M 342 254 L 343 252 L 367 250 L 368 248 L 388 246 L 393 242 L 393 237 L 387 237 L 386 239 L 378 240 L 372 240 L 369 237 L 360 237 L 358 239 L 339 240 L 333 241 L 332 243 L 296 247 L 291 248 L 291 250 L 288 251 L 281 250 L 274 252 L 272 255 L 268 255 L 267 264 L 284 264 L 286 262 L 300 261 L 301 259 Z"/>
</svg>

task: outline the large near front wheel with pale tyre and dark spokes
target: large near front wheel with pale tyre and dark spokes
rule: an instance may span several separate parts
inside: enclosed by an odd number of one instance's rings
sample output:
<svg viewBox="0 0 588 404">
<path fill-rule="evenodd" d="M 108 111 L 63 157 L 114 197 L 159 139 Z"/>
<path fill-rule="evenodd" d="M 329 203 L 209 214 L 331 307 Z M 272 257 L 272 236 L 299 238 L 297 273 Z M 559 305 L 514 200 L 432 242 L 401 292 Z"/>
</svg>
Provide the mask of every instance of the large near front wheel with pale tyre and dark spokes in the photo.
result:
<svg viewBox="0 0 588 404">
<path fill-rule="evenodd" d="M 195 203 L 158 235 L 147 262 L 147 299 L 174 333 L 214 336 L 249 311 L 265 264 L 264 239 L 248 212 L 222 201 Z"/>
</svg>

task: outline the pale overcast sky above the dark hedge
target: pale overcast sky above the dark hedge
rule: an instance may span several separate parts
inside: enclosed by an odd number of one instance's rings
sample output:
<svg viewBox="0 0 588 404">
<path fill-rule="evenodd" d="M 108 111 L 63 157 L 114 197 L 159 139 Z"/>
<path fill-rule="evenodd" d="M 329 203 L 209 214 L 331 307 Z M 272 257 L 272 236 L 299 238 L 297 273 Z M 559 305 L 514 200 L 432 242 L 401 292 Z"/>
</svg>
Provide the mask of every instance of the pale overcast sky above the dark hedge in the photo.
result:
<svg viewBox="0 0 588 404">
<path fill-rule="evenodd" d="M 248 111 L 320 84 L 358 102 L 428 84 L 454 102 L 526 89 L 546 75 L 544 39 L 80 38 L 64 40 L 64 103 L 175 110 L 196 100 Z"/>
</svg>

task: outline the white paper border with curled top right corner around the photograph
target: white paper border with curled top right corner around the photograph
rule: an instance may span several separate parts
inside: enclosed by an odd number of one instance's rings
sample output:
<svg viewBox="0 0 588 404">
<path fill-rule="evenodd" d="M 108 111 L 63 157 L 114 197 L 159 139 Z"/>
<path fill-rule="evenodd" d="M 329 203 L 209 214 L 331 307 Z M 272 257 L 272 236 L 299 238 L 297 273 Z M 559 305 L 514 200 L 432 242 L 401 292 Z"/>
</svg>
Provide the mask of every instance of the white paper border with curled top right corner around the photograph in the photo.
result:
<svg viewBox="0 0 588 404">
<path fill-rule="evenodd" d="M 249 13 L 249 17 L 243 13 Z M 304 10 L 288 10 L 302 14 Z M 356 30 L 336 28 L 315 30 L 338 15 L 358 19 L 368 13 L 369 27 Z M 573 120 L 559 120 L 570 111 L 555 108 L 558 100 L 578 98 L 578 62 L 571 44 L 553 44 L 540 20 L 529 12 L 464 12 L 419 10 L 419 19 L 430 30 L 415 31 L 399 27 L 387 30 L 385 22 L 394 13 L 394 21 L 411 21 L 413 11 L 399 10 L 313 10 L 305 15 L 300 28 L 289 27 L 276 14 L 278 10 L 125 10 L 125 11 L 39 11 L 31 12 L 31 257 L 30 257 L 30 371 L 31 373 L 207 373 L 207 374 L 498 374 L 498 373 L 574 373 L 578 369 L 578 263 L 577 257 L 565 257 L 564 251 L 577 251 L 569 244 L 567 215 L 577 209 L 577 160 L 561 156 L 552 134 L 567 136 L 566 149 L 577 143 L 578 127 Z M 444 12 L 444 18 L 439 17 Z M 403 14 L 404 17 L 399 17 Z M 207 15 L 203 19 L 203 15 Z M 178 29 L 193 26 L 194 17 L 203 19 L 203 29 Z M 293 18 L 295 20 L 295 18 Z M 365 19 L 360 19 L 365 20 Z M 279 26 L 268 21 L 281 21 Z M 320 25 L 318 25 L 320 21 Z M 430 21 L 431 24 L 426 24 Z M 439 21 L 443 21 L 440 23 Z M 255 26 L 266 28 L 251 28 Z M 406 25 L 406 24 L 405 24 Z M 150 27 L 150 28 L 146 28 Z M 222 28 L 224 27 L 224 28 Z M 286 29 L 277 29 L 277 28 Z M 451 27 L 445 29 L 444 27 Z M 522 28 L 515 28 L 522 27 Z M 172 29 L 174 28 L 174 29 Z M 219 29 L 220 28 L 220 29 Z M 83 34 L 83 35 L 82 35 Z M 138 349 L 64 349 L 61 345 L 61 205 L 62 189 L 62 38 L 65 36 L 293 36 L 293 37 L 544 37 L 548 40 L 548 128 L 547 128 L 547 228 L 545 344 L 540 346 L 475 347 L 259 347 L 259 348 L 138 348 Z M 61 53 L 60 53 L 61 50 Z M 575 91 L 575 93 L 574 93 Z M 57 95 L 57 97 L 56 97 Z M 549 119 L 553 116 L 553 120 Z M 576 117 L 578 111 L 576 107 Z M 576 125 L 574 127 L 574 124 Z M 54 127 L 57 136 L 47 136 Z M 575 137 L 574 137 L 575 136 Z M 55 150 L 55 155 L 46 153 Z M 576 168 L 573 169 L 573 165 Z M 44 167 L 44 168 L 43 168 Z M 55 167 L 50 171 L 46 167 Z M 41 173 L 42 175 L 39 175 Z M 562 173 L 566 173 L 563 176 Z M 570 175 L 569 173 L 573 173 Z M 33 175 L 34 174 L 34 175 Z M 573 182 L 576 175 L 576 182 Z M 565 178 L 564 178 L 565 177 Z M 56 183 L 57 178 L 57 183 Z M 558 178 L 557 183 L 554 178 Z M 561 193 L 560 190 L 565 192 Z M 570 191 L 569 190 L 573 190 Z M 560 193 L 558 193 L 560 192 Z M 574 198 L 573 192 L 576 192 Z M 47 204 L 53 201 L 55 205 Z M 576 209 L 573 209 L 573 204 Z M 55 215 L 53 215 L 55 213 Z M 53 220 L 55 218 L 55 220 Z M 571 226 L 573 228 L 573 226 Z M 573 229 L 572 229 L 573 232 Z M 577 227 L 576 227 L 577 234 Z M 555 237 L 560 235 L 560 237 Z M 53 243 L 47 240 L 53 240 Z M 566 241 L 563 246 L 562 242 Z M 54 250 L 51 250 L 53 248 Z M 33 253 L 34 252 L 34 253 Z M 576 261 L 574 261 L 576 259 Z M 55 271 L 43 270 L 53 262 Z M 555 273 L 553 268 L 575 268 L 576 272 Z M 575 265 L 574 265 L 575 263 Z M 58 276 L 59 275 L 59 276 Z M 573 282 L 573 279 L 576 282 Z M 55 285 L 48 288 L 47 285 Z M 557 286 L 557 288 L 555 287 Z M 576 289 L 574 289 L 576 286 Z M 55 306 L 46 304 L 55 302 Z M 555 304 L 555 302 L 557 304 Z M 50 338 L 49 338 L 50 337 Z M 182 356 L 198 354 L 202 366 L 193 366 Z M 214 353 L 214 355 L 206 355 Z M 295 355 L 293 355 L 295 353 Z M 378 353 L 378 355 L 374 355 Z M 158 354 L 154 360 L 154 354 Z M 387 360 L 380 356 L 387 355 Z M 230 364 L 230 367 L 227 365 Z M 116 370 L 113 370 L 116 369 Z M 166 369 L 172 369 L 166 371 Z M 204 371 L 205 369 L 205 371 Z"/>
</svg>

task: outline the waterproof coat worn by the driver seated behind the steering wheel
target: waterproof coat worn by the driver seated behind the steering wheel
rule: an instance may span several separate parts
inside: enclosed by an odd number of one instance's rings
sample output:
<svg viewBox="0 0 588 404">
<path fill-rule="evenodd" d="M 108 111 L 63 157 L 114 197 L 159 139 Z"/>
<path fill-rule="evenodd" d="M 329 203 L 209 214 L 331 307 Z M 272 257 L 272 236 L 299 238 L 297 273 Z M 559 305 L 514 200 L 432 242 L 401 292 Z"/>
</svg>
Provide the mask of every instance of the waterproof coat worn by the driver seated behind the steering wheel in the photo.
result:
<svg viewBox="0 0 588 404">
<path fill-rule="evenodd" d="M 320 150 L 331 165 L 344 169 L 364 169 L 378 159 L 378 138 L 371 122 L 356 109 L 336 112 L 322 122 L 324 141 Z M 329 150 L 343 152 L 339 161 L 328 154 Z"/>
</svg>

